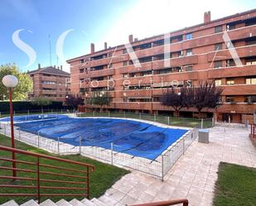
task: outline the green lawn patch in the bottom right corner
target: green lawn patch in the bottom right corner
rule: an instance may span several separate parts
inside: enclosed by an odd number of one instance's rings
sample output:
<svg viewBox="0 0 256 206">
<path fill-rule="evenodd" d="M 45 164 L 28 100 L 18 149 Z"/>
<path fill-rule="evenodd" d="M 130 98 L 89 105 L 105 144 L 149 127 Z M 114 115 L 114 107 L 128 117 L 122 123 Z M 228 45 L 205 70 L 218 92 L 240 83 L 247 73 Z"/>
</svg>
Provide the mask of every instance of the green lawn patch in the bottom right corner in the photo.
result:
<svg viewBox="0 0 256 206">
<path fill-rule="evenodd" d="M 215 184 L 215 206 L 255 206 L 256 168 L 221 162 Z"/>
</svg>

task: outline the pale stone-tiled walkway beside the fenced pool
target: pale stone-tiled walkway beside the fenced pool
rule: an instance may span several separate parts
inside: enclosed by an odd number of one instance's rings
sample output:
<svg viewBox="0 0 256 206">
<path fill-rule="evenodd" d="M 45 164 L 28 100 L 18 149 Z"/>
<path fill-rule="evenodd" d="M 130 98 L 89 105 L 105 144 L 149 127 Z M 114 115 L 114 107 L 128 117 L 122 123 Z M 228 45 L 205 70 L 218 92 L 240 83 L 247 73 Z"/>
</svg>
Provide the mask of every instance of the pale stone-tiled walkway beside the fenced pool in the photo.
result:
<svg viewBox="0 0 256 206">
<path fill-rule="evenodd" d="M 99 199 L 108 205 L 125 205 L 186 198 L 189 205 L 212 205 L 220 161 L 256 167 L 256 149 L 249 140 L 249 129 L 211 128 L 210 144 L 195 141 L 164 182 L 133 171 Z"/>
</svg>

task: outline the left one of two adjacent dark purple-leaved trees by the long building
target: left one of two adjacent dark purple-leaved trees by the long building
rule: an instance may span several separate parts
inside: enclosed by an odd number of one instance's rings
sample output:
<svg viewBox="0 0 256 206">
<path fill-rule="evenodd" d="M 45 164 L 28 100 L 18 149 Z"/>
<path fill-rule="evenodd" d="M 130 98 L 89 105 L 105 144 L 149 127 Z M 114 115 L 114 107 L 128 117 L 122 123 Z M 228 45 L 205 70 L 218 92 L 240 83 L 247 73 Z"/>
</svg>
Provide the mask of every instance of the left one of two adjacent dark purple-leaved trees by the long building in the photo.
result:
<svg viewBox="0 0 256 206">
<path fill-rule="evenodd" d="M 176 116 L 179 117 L 181 108 L 188 107 L 187 89 L 182 87 L 178 92 L 177 89 L 168 89 L 166 93 L 160 98 L 162 105 L 171 107 L 175 110 Z"/>
</svg>

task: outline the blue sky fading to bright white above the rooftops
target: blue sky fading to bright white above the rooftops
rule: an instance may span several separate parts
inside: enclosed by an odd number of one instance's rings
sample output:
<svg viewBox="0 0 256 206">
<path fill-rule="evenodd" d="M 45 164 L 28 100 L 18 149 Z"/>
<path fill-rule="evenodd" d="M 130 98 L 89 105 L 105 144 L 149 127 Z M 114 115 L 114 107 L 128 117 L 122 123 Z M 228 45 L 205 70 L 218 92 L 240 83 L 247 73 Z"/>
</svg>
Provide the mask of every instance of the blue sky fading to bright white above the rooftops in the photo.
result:
<svg viewBox="0 0 256 206">
<path fill-rule="evenodd" d="M 0 0 L 0 65 L 22 71 L 256 8 L 254 0 Z M 51 46 L 50 46 L 51 45 Z M 51 47 L 51 55 L 50 55 Z"/>
</svg>

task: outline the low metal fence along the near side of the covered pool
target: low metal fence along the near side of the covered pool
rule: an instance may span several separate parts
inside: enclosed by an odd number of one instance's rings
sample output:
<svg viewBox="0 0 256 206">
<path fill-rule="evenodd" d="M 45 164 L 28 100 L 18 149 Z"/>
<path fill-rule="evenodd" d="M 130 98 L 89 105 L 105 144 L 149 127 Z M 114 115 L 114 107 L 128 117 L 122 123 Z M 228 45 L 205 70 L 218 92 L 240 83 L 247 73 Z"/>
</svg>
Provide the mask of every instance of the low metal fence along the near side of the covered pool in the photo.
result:
<svg viewBox="0 0 256 206">
<path fill-rule="evenodd" d="M 40 133 L 37 135 L 23 132 L 19 127 L 14 127 L 15 138 L 18 141 L 26 142 L 31 146 L 36 146 L 46 151 L 51 151 L 56 154 L 80 154 L 95 160 L 102 160 L 106 163 L 118 166 L 124 166 L 132 170 L 139 170 L 144 173 L 154 175 L 164 180 L 164 176 L 176 161 L 184 155 L 184 152 L 191 145 L 191 143 L 198 137 L 198 128 L 194 127 L 185 135 L 180 137 L 176 142 L 167 148 L 162 155 L 158 156 L 156 160 L 149 160 L 146 158 L 131 156 L 126 153 L 115 151 L 113 142 L 109 143 L 111 149 L 104 149 L 97 146 L 82 146 L 80 137 L 79 146 L 73 146 L 61 142 L 61 138 L 50 139 L 41 137 Z M 10 125 L 7 123 L 0 123 L 0 133 L 11 137 Z M 88 142 L 89 143 L 89 142 Z M 91 142 L 93 143 L 93 142 Z M 141 151 L 147 152 L 147 151 Z"/>
</svg>

